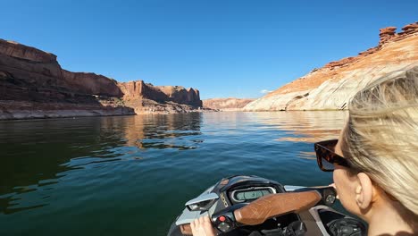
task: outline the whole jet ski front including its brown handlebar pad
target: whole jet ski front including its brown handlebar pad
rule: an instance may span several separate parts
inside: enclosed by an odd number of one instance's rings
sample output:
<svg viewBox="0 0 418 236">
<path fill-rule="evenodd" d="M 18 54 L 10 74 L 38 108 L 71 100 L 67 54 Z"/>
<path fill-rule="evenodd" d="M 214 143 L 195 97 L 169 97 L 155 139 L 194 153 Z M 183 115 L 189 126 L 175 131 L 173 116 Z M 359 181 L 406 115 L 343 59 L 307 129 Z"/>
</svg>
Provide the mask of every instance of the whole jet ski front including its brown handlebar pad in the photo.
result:
<svg viewBox="0 0 418 236">
<path fill-rule="evenodd" d="M 336 197 L 330 186 L 283 186 L 255 175 L 234 175 L 189 200 L 168 236 L 192 235 L 190 223 L 204 215 L 225 236 L 366 235 L 363 222 L 331 207 Z"/>
</svg>

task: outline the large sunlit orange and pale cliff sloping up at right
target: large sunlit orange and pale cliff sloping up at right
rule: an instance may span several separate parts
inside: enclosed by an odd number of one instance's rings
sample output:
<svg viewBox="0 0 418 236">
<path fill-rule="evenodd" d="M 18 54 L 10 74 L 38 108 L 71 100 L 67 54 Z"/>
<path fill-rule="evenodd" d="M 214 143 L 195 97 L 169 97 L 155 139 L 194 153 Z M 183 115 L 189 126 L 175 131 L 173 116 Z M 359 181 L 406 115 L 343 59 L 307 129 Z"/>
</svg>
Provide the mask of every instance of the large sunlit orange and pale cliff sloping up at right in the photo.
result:
<svg viewBox="0 0 418 236">
<path fill-rule="evenodd" d="M 418 22 L 380 30 L 380 42 L 359 55 L 325 64 L 261 97 L 245 111 L 346 109 L 350 97 L 389 72 L 418 64 Z"/>
</svg>

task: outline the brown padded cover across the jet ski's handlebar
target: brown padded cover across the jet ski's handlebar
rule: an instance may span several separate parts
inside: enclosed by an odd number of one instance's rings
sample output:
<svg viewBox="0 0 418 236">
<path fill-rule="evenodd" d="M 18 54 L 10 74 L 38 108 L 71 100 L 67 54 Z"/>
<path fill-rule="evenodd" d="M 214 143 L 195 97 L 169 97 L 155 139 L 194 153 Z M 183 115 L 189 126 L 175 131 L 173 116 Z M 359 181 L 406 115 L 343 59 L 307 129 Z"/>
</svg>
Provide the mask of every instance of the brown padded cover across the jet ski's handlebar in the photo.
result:
<svg viewBox="0 0 418 236">
<path fill-rule="evenodd" d="M 254 202 L 234 211 L 238 223 L 256 225 L 265 220 L 290 212 L 305 211 L 322 199 L 316 191 L 276 193 L 258 198 Z"/>
</svg>

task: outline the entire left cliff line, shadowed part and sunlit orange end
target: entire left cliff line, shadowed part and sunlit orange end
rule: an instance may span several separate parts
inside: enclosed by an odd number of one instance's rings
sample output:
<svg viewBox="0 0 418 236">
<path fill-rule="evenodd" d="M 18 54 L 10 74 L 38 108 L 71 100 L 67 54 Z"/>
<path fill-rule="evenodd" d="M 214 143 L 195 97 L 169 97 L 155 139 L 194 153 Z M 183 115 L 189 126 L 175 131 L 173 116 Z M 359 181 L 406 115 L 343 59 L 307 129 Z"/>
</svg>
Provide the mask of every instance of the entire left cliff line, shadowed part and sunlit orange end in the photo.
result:
<svg viewBox="0 0 418 236">
<path fill-rule="evenodd" d="M 0 120 L 201 111 L 197 89 L 63 70 L 56 55 L 0 39 Z"/>
</svg>

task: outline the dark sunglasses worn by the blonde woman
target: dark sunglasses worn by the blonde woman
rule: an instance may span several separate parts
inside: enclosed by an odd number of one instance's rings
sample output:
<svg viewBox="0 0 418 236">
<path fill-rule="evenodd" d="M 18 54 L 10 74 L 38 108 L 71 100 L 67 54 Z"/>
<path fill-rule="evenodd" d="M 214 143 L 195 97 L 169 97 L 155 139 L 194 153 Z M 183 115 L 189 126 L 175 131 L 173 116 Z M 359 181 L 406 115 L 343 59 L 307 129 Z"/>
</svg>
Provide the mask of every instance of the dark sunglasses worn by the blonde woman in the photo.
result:
<svg viewBox="0 0 418 236">
<path fill-rule="evenodd" d="M 339 139 L 331 139 L 314 144 L 316 161 L 323 172 L 333 172 L 334 164 L 350 167 L 346 158 L 335 153 L 335 146 L 338 142 Z"/>
</svg>

